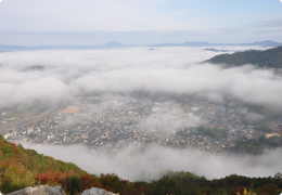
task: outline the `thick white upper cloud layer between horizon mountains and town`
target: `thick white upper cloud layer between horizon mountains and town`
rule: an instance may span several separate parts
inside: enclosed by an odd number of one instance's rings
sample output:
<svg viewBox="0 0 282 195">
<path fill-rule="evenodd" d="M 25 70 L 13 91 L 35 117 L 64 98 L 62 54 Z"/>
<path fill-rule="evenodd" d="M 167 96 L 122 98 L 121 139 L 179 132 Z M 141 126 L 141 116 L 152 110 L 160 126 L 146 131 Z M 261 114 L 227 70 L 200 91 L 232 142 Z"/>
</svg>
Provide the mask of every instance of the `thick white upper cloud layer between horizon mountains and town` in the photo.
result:
<svg viewBox="0 0 282 195">
<path fill-rule="evenodd" d="M 198 64 L 216 54 L 203 48 L 1 53 L 0 106 L 64 99 L 79 92 L 142 90 L 200 94 L 215 102 L 234 99 L 282 108 L 281 75 L 253 65 L 225 68 Z M 33 65 L 44 69 L 27 69 Z"/>
</svg>

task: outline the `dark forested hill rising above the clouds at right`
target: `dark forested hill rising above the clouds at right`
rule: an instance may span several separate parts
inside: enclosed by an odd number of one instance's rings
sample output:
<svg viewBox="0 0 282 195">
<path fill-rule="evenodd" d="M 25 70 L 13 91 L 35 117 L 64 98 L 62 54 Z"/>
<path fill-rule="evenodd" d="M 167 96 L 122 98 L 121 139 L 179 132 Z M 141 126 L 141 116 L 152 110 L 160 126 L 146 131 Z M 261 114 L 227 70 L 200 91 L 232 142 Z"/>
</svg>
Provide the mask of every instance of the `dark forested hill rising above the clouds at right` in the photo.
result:
<svg viewBox="0 0 282 195">
<path fill-rule="evenodd" d="M 205 62 L 211 64 L 226 64 L 228 66 L 255 64 L 259 67 L 282 68 L 282 47 L 265 51 L 251 50 L 233 54 L 220 54 Z"/>
</svg>

